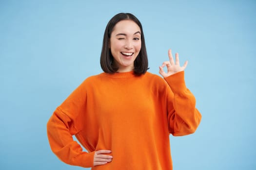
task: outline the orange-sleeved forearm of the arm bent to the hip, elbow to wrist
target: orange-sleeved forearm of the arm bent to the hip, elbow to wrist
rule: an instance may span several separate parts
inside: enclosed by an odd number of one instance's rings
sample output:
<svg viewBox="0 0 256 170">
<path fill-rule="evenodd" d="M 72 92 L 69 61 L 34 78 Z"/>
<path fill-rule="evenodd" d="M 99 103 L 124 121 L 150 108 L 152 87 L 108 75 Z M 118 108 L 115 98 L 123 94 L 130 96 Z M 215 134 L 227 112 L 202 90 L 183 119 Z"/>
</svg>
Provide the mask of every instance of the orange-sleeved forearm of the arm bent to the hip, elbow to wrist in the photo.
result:
<svg viewBox="0 0 256 170">
<path fill-rule="evenodd" d="M 67 164 L 80 167 L 93 167 L 94 152 L 82 152 L 81 146 L 70 133 L 72 120 L 56 109 L 47 123 L 47 135 L 53 153 Z"/>
</svg>

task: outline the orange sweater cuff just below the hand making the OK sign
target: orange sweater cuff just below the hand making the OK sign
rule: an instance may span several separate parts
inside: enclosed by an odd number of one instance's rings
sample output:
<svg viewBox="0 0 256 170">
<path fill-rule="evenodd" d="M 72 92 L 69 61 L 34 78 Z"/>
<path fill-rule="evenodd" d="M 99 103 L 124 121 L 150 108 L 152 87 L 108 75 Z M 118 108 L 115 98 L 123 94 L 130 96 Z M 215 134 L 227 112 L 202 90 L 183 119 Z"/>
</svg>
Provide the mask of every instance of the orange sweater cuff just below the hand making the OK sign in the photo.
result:
<svg viewBox="0 0 256 170">
<path fill-rule="evenodd" d="M 164 80 L 168 83 L 174 93 L 182 93 L 187 89 L 184 79 L 184 71 L 165 77 Z"/>
</svg>

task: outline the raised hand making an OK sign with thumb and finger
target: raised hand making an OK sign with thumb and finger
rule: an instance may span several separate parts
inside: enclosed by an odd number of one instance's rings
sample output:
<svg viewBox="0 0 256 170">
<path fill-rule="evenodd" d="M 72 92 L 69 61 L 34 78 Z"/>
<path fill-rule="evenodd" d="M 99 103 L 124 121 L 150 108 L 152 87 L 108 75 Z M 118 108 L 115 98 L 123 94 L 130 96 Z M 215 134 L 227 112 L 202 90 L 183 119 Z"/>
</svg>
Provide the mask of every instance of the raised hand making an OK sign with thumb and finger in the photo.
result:
<svg viewBox="0 0 256 170">
<path fill-rule="evenodd" d="M 182 67 L 179 66 L 179 58 L 178 58 L 178 53 L 175 54 L 175 58 L 176 58 L 176 63 L 174 62 L 173 59 L 173 55 L 172 55 L 172 50 L 170 49 L 168 51 L 168 56 L 169 56 L 169 60 L 170 61 L 165 61 L 163 62 L 162 66 L 159 67 L 159 73 L 165 78 L 168 77 L 170 75 L 173 75 L 179 71 L 183 71 L 187 65 L 188 65 L 188 61 L 186 61 L 184 63 L 184 65 Z M 167 73 L 163 70 L 164 67 L 167 67 Z"/>
</svg>

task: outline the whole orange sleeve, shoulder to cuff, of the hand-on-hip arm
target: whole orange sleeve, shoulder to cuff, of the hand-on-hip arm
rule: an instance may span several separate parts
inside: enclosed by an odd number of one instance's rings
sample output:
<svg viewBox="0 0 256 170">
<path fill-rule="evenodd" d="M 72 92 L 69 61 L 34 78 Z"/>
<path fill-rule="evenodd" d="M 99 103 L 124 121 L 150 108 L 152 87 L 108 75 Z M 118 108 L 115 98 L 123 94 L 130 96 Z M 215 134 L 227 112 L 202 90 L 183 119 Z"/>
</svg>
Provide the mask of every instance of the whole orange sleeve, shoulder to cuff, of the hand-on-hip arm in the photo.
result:
<svg viewBox="0 0 256 170">
<path fill-rule="evenodd" d="M 73 140 L 72 135 L 82 128 L 86 103 L 86 91 L 80 85 L 53 113 L 47 123 L 47 135 L 53 153 L 63 162 L 93 167 L 94 152 L 86 153 Z"/>
</svg>

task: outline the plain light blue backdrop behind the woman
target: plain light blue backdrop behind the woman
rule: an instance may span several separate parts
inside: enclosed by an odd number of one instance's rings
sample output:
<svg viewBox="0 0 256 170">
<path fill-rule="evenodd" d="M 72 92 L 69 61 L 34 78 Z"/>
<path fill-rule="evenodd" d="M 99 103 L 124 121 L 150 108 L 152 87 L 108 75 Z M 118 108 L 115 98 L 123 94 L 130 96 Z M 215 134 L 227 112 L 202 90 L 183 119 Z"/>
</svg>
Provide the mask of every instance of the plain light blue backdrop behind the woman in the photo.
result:
<svg viewBox="0 0 256 170">
<path fill-rule="evenodd" d="M 189 61 L 203 117 L 195 134 L 170 136 L 174 170 L 255 170 L 255 0 L 0 0 L 0 169 L 82 169 L 51 152 L 46 123 L 101 72 L 103 32 L 119 12 L 141 21 L 150 72 L 169 48 Z"/>
</svg>

